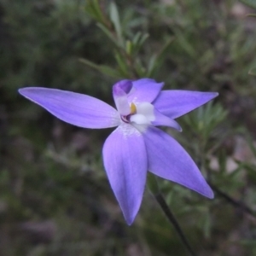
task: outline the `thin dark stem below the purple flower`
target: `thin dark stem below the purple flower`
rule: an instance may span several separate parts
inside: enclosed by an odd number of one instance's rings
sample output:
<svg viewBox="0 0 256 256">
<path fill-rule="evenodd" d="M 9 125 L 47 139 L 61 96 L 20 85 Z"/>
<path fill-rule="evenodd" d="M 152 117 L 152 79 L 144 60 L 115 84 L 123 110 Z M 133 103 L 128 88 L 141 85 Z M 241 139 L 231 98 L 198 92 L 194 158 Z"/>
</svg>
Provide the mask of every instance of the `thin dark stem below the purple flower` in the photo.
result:
<svg viewBox="0 0 256 256">
<path fill-rule="evenodd" d="M 168 205 L 167 205 L 163 195 L 161 195 L 160 193 L 157 193 L 157 194 L 154 194 L 154 198 L 159 203 L 159 205 L 160 205 L 161 209 L 163 210 L 163 212 L 165 212 L 166 217 L 168 218 L 170 223 L 174 226 L 175 230 L 177 231 L 178 236 L 183 241 L 183 244 L 188 249 L 189 253 L 192 256 L 195 256 L 195 253 L 194 253 L 193 249 L 189 245 L 189 241 L 184 236 L 183 230 L 181 229 L 180 225 L 178 224 L 177 219 L 173 215 L 171 209 L 168 207 Z"/>
</svg>

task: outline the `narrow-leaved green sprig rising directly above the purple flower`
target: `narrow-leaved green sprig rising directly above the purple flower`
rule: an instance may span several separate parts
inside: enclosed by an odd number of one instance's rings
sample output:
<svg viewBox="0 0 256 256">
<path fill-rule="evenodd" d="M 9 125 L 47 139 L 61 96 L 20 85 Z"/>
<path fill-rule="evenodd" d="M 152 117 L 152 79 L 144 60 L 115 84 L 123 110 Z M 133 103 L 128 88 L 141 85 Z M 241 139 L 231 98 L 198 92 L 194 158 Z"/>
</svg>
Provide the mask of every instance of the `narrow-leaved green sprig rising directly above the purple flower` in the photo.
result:
<svg viewBox="0 0 256 256">
<path fill-rule="evenodd" d="M 98 66 L 89 60 L 82 59 L 81 61 L 85 65 L 117 79 L 154 77 L 156 70 L 160 68 L 163 62 L 166 49 L 172 43 L 172 38 L 157 53 L 145 60 L 141 58 L 140 50 L 143 49 L 149 37 L 148 33 L 141 31 L 137 31 L 134 35 L 131 32 L 128 33 L 127 24 L 120 21 L 119 9 L 113 1 L 109 3 L 108 14 L 104 13 L 99 3 L 94 0 L 88 1 L 86 12 L 97 21 L 97 26 L 113 43 L 117 66 L 114 69 L 109 67 L 107 69 L 105 65 Z M 130 19 L 132 18 L 131 16 Z"/>
</svg>

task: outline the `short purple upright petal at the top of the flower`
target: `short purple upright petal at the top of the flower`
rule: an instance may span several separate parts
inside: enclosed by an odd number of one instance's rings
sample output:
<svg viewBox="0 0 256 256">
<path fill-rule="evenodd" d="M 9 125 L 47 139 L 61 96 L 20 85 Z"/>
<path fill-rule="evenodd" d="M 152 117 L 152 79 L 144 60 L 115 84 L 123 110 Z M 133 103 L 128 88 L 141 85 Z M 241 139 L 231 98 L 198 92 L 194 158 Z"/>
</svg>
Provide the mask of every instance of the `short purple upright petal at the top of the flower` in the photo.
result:
<svg viewBox="0 0 256 256">
<path fill-rule="evenodd" d="M 156 83 L 154 79 L 132 81 L 133 88 L 128 95 L 129 102 L 153 102 L 159 95 L 164 83 Z"/>
</svg>

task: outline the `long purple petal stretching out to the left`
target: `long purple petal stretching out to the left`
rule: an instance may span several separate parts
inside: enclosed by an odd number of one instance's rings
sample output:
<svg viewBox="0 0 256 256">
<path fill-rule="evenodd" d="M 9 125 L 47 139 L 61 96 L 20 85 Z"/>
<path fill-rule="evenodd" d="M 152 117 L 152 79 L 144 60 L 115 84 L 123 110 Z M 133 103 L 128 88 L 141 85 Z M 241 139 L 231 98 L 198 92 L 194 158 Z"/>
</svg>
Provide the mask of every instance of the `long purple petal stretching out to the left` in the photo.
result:
<svg viewBox="0 0 256 256">
<path fill-rule="evenodd" d="M 119 113 L 94 97 L 40 87 L 19 90 L 22 96 L 45 108 L 57 118 L 84 128 L 108 128 L 119 125 Z"/>
</svg>

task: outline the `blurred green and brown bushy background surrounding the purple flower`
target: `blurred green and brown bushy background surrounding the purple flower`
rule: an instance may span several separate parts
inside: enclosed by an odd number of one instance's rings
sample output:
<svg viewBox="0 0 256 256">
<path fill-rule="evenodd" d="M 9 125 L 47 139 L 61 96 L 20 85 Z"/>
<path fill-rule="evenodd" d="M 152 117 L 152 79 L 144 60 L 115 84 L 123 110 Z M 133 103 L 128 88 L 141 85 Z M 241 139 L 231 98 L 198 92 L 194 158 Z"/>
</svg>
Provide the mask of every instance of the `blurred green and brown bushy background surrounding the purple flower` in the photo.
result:
<svg viewBox="0 0 256 256">
<path fill-rule="evenodd" d="M 197 255 L 256 255 L 253 7 L 0 0 L 0 255 L 188 255 L 148 189 L 135 223 L 125 224 L 102 166 L 113 129 L 68 125 L 17 93 L 44 86 L 113 105 L 112 85 L 140 77 L 219 92 L 177 119 L 181 134 L 165 130 L 201 168 L 214 200 L 162 179 L 160 189 Z"/>
</svg>

